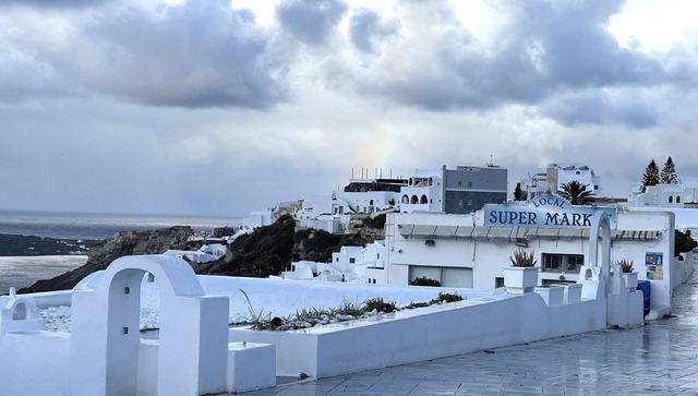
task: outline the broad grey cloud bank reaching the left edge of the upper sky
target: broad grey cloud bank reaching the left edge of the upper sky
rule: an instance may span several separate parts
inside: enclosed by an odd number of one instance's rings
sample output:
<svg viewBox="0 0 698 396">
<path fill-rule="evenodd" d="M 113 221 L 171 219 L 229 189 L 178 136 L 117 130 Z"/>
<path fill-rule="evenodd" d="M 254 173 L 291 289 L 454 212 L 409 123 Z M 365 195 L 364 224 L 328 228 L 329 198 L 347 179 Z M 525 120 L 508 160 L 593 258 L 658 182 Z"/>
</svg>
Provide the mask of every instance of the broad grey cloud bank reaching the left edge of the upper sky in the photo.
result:
<svg viewBox="0 0 698 396">
<path fill-rule="evenodd" d="M 290 98 L 285 64 L 268 53 L 270 33 L 249 10 L 217 0 L 103 11 L 86 22 L 68 16 L 56 40 L 35 27 L 9 34 L 0 100 L 64 96 L 65 86 L 155 107 L 269 109 Z"/>
</svg>

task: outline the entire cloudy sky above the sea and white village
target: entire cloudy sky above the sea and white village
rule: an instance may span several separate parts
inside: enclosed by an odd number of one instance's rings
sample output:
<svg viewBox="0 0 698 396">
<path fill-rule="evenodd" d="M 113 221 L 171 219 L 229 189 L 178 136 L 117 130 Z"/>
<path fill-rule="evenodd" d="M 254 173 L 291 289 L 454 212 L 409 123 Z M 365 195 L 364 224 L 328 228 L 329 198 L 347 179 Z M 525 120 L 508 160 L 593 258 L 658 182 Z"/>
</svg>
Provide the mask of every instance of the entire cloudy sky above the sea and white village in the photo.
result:
<svg viewBox="0 0 698 396">
<path fill-rule="evenodd" d="M 0 209 L 245 216 L 490 160 L 625 196 L 698 177 L 697 88 L 694 0 L 2 0 Z"/>
</svg>

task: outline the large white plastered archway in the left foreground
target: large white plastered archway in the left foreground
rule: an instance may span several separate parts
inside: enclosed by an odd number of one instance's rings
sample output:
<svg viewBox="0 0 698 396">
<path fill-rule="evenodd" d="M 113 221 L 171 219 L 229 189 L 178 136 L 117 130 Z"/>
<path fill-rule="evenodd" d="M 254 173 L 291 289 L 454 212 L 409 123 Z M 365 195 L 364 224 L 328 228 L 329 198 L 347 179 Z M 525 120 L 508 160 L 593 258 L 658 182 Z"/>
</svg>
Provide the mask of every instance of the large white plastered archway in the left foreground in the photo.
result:
<svg viewBox="0 0 698 396">
<path fill-rule="evenodd" d="M 160 289 L 157 395 L 225 388 L 228 298 L 204 296 L 181 259 L 141 255 L 118 259 L 97 279 L 73 289 L 71 395 L 139 393 L 141 283 L 146 274 L 157 278 Z"/>
</svg>

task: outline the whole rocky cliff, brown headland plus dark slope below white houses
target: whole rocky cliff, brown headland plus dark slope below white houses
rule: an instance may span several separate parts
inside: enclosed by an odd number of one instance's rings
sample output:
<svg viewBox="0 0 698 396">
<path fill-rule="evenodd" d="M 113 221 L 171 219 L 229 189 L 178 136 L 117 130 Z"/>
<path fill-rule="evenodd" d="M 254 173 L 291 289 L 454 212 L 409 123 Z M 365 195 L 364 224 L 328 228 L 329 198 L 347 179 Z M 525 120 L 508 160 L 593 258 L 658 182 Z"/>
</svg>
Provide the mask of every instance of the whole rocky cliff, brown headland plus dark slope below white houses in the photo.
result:
<svg viewBox="0 0 698 396">
<path fill-rule="evenodd" d="M 228 275 L 265 278 L 287 269 L 291 261 L 309 260 L 329 262 L 333 252 L 344 245 L 363 247 L 363 233 L 375 233 L 366 226 L 354 235 L 333 235 L 315 229 L 296 229 L 296 220 L 281 216 L 270 226 L 260 227 L 254 232 L 241 236 L 228 245 L 226 255 L 218 261 L 192 264 L 197 274 Z M 373 231 L 371 231 L 373 230 Z M 87 263 L 80 268 L 39 280 L 20 292 L 37 292 L 72 289 L 85 276 L 105 269 L 112 261 L 134 254 L 159 254 L 168 249 L 196 250 L 201 242 L 188 242 L 190 227 L 178 226 L 156 231 L 124 231 L 94 244 L 87 253 Z"/>
</svg>

